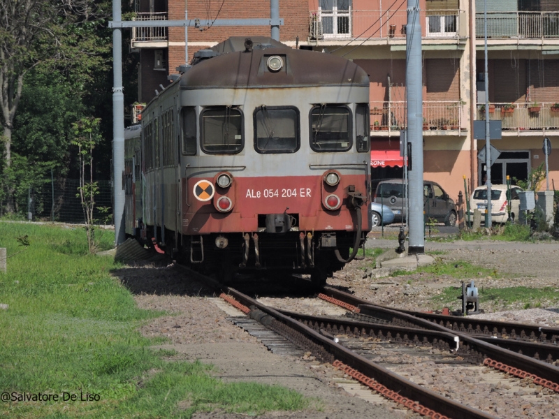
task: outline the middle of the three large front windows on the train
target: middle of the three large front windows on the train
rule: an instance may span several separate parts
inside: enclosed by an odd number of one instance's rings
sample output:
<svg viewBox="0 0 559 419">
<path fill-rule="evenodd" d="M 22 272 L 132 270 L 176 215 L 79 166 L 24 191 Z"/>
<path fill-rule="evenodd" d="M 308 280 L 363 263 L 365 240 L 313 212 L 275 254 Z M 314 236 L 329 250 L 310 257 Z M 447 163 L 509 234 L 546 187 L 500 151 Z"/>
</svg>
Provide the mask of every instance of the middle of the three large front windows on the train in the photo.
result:
<svg viewBox="0 0 559 419">
<path fill-rule="evenodd" d="M 254 149 L 259 153 L 294 153 L 299 149 L 299 111 L 262 105 L 254 111 Z"/>
</svg>

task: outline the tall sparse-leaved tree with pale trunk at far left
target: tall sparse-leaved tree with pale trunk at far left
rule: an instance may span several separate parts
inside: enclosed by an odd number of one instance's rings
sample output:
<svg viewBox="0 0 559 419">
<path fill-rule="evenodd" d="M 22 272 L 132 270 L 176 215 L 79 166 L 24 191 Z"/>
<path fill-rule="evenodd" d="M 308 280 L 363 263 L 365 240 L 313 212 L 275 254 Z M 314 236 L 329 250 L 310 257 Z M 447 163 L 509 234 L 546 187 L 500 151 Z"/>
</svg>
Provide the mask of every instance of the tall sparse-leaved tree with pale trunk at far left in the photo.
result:
<svg viewBox="0 0 559 419">
<path fill-rule="evenodd" d="M 13 122 L 24 78 L 37 66 L 91 68 L 99 45 L 88 37 L 108 2 L 94 0 L 0 0 L 0 107 L 3 163 L 12 160 Z"/>
</svg>

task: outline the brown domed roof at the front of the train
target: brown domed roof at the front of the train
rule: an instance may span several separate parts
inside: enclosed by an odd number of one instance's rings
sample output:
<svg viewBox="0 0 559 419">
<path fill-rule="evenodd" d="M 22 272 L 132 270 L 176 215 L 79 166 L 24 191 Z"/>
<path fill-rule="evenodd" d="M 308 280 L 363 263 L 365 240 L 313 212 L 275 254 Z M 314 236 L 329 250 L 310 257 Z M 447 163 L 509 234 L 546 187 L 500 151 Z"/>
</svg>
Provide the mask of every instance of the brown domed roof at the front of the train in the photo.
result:
<svg viewBox="0 0 559 419">
<path fill-rule="evenodd" d="M 232 37 L 212 47 L 213 54 L 217 56 L 203 59 L 189 68 L 180 78 L 180 88 L 369 86 L 369 78 L 363 68 L 342 57 L 295 50 L 270 38 L 256 36 L 251 37 L 253 47 L 245 48 L 245 39 Z M 284 59 L 284 67 L 280 71 L 268 71 L 266 61 L 271 55 Z"/>
</svg>

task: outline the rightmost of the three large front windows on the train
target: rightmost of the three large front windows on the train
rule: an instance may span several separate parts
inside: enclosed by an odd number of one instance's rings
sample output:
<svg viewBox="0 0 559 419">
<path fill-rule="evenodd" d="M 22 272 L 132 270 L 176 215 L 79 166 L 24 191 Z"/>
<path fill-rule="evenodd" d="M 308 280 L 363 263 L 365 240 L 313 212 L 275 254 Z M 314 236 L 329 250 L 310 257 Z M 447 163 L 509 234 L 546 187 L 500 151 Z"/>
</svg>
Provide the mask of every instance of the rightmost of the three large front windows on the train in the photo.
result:
<svg viewBox="0 0 559 419">
<path fill-rule="evenodd" d="M 310 111 L 310 146 L 315 152 L 351 149 L 351 110 L 345 105 L 316 105 Z"/>
</svg>

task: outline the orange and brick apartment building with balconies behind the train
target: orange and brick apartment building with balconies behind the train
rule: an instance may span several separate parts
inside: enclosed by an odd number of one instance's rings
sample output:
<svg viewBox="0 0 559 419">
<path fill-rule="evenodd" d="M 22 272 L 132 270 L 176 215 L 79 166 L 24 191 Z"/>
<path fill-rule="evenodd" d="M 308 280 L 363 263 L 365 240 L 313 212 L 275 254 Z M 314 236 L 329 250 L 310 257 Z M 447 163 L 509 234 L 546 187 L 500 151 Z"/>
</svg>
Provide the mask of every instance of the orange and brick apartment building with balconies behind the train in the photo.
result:
<svg viewBox="0 0 559 419">
<path fill-rule="evenodd" d="M 135 19 L 184 18 L 184 0 L 137 0 Z M 544 161 L 542 141 L 559 147 L 559 1 L 488 0 L 487 92 L 491 119 L 502 121 L 494 184 L 525 179 Z M 292 47 L 344 56 L 369 74 L 372 176 L 402 176 L 400 131 L 405 128 L 407 0 L 279 0 L 280 40 Z M 485 168 L 472 137 L 484 119 L 484 0 L 421 0 L 424 177 L 454 198 L 463 176 L 481 183 Z M 191 19 L 269 17 L 268 1 L 189 0 Z M 228 36 L 269 36 L 269 27 L 189 29 L 189 57 Z M 298 43 L 297 43 L 298 40 Z M 135 29 L 140 54 L 138 99 L 150 101 L 159 84 L 184 64 L 184 28 Z M 555 106 L 557 105 L 557 106 Z M 559 188 L 559 150 L 549 159 Z M 557 180 L 557 182 L 555 182 Z"/>
</svg>

